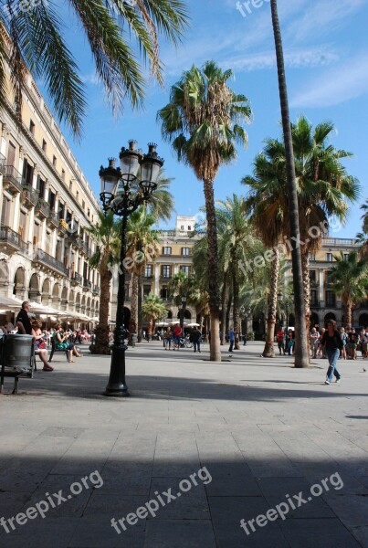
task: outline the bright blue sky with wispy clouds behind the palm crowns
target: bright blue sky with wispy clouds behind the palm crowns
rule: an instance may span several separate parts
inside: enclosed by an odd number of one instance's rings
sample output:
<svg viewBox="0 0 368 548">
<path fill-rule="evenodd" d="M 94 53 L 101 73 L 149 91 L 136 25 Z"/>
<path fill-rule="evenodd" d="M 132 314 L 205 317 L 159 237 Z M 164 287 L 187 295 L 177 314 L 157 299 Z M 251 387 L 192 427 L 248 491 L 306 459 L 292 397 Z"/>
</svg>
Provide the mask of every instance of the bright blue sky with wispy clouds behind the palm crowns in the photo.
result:
<svg viewBox="0 0 368 548">
<path fill-rule="evenodd" d="M 145 110 L 127 108 L 113 119 L 96 83 L 89 49 L 79 29 L 68 21 L 68 39 L 88 85 L 89 110 L 82 142 L 73 142 L 65 131 L 79 164 L 98 194 L 100 164 L 118 156 L 121 146 L 134 138 L 143 150 L 147 142 L 158 143 L 166 173 L 175 180 L 172 192 L 179 215 L 195 215 L 204 204 L 203 187 L 189 167 L 177 163 L 170 145 L 163 142 L 156 112 L 169 100 L 171 85 L 193 63 L 201 66 L 214 59 L 223 68 L 233 68 L 230 82 L 250 100 L 254 120 L 247 127 L 247 150 L 239 150 L 236 163 L 222 167 L 215 184 L 216 198 L 246 194 L 240 179 L 251 174 L 252 161 L 262 150 L 263 140 L 280 136 L 279 90 L 269 1 L 254 0 L 247 7 L 235 0 L 187 0 L 191 28 L 178 49 L 162 44 L 165 82 L 160 89 L 151 82 Z M 311 7 L 311 5 L 313 5 Z M 246 16 L 244 16 L 246 15 Z M 313 123 L 333 121 L 332 144 L 354 154 L 345 164 L 360 179 L 360 203 L 368 195 L 368 3 L 366 0 L 279 0 L 284 53 L 289 85 L 291 120 L 305 114 Z M 352 206 L 346 227 L 334 237 L 354 237 L 361 229 L 359 205 Z M 169 223 L 170 225 L 170 223 Z M 173 225 L 173 223 L 171 223 Z"/>
</svg>

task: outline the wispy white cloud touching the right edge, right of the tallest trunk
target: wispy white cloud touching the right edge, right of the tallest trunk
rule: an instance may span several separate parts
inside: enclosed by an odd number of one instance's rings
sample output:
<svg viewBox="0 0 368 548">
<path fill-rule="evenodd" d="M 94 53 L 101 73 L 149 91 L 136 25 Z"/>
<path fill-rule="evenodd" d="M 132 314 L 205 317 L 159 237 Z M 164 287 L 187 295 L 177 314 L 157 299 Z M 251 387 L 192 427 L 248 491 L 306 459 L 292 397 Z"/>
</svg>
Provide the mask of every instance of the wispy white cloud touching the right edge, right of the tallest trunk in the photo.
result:
<svg viewBox="0 0 368 548">
<path fill-rule="evenodd" d="M 290 103 L 294 108 L 319 108 L 338 105 L 368 93 L 368 54 L 349 59 L 344 65 L 324 72 Z"/>
</svg>

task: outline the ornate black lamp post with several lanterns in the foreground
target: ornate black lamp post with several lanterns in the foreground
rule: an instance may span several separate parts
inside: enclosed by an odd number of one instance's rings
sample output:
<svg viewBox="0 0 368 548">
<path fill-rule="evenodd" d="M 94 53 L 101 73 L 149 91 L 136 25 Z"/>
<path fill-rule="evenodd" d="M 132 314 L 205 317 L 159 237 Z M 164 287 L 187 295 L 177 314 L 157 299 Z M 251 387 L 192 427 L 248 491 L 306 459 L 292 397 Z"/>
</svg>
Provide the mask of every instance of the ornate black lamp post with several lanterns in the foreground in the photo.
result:
<svg viewBox="0 0 368 548">
<path fill-rule="evenodd" d="M 101 192 L 100 200 L 105 213 L 112 212 L 120 216 L 121 222 L 121 257 L 119 269 L 118 300 L 116 311 L 116 327 L 112 346 L 110 377 L 104 395 L 129 395 L 128 386 L 125 384 L 125 335 L 127 329 L 124 325 L 125 304 L 125 256 L 126 256 L 126 232 L 128 217 L 133 211 L 152 195 L 157 186 L 157 178 L 160 168 L 163 166 L 163 158 L 156 153 L 156 144 L 148 144 L 148 153 L 136 150 L 136 142 L 129 141 L 129 148 L 121 148 L 119 155 L 121 167 L 115 167 L 115 159 L 109 158 L 109 166 L 100 167 Z M 139 174 L 139 171 L 141 173 Z"/>
</svg>

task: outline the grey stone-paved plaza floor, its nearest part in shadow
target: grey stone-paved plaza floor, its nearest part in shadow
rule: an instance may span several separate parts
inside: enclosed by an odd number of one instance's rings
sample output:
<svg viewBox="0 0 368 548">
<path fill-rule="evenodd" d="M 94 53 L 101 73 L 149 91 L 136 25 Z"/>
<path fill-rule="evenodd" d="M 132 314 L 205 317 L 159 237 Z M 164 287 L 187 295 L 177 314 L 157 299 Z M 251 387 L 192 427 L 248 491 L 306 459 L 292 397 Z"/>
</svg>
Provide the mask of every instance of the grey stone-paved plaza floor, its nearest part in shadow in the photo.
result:
<svg viewBox="0 0 368 548">
<path fill-rule="evenodd" d="M 326 360 L 261 350 L 144 342 L 129 398 L 101 395 L 110 357 L 87 348 L 20 380 L 0 396 L 0 546 L 368 547 L 368 361 L 327 386 Z"/>
</svg>

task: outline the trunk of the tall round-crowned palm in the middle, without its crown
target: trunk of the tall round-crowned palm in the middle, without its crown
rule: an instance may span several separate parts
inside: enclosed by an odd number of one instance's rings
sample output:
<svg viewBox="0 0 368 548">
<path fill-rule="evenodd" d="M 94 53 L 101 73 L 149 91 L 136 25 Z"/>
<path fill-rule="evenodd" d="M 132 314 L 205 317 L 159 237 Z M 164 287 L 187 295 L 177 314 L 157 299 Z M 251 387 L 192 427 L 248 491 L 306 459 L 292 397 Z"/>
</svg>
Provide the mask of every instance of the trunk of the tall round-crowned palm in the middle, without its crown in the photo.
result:
<svg viewBox="0 0 368 548">
<path fill-rule="evenodd" d="M 218 250 L 217 250 L 217 229 L 216 229 L 216 211 L 214 183 L 211 179 L 204 181 L 205 192 L 205 213 L 207 220 L 207 240 L 208 240 L 208 293 L 209 307 L 211 314 L 211 341 L 210 341 L 210 360 L 212 362 L 221 362 L 220 350 L 220 289 L 219 289 L 219 271 L 218 271 Z"/>
</svg>

